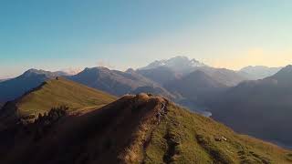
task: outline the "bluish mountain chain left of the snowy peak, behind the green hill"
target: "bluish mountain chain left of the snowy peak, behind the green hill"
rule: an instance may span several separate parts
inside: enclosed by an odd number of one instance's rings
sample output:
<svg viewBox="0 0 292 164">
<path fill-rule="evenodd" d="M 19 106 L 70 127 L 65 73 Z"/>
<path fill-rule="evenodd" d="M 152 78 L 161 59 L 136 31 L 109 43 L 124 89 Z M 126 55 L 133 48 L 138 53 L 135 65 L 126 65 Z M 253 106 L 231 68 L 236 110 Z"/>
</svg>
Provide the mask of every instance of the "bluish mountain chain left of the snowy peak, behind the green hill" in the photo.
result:
<svg viewBox="0 0 292 164">
<path fill-rule="evenodd" d="M 121 72 L 110 70 L 106 67 L 92 67 L 86 68 L 74 76 L 68 76 L 68 74 L 61 71 L 49 72 L 29 69 L 19 77 L 0 82 L 0 102 L 5 103 L 20 97 L 44 81 L 56 77 L 66 77 L 88 87 L 94 87 L 116 96 L 143 91 L 174 98 L 160 84 L 141 76 L 133 69 Z"/>
</svg>

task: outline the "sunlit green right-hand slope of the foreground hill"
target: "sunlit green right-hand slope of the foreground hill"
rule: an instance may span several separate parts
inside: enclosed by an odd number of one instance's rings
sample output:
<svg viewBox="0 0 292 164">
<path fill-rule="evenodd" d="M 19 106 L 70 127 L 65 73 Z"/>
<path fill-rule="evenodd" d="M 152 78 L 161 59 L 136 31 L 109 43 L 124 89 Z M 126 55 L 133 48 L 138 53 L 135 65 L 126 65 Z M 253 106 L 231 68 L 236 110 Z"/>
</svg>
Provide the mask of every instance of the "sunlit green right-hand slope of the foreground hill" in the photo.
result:
<svg viewBox="0 0 292 164">
<path fill-rule="evenodd" d="M 170 105 L 168 109 L 151 132 L 145 163 L 292 163 L 287 150 L 238 135 L 213 119 L 183 108 Z"/>
</svg>

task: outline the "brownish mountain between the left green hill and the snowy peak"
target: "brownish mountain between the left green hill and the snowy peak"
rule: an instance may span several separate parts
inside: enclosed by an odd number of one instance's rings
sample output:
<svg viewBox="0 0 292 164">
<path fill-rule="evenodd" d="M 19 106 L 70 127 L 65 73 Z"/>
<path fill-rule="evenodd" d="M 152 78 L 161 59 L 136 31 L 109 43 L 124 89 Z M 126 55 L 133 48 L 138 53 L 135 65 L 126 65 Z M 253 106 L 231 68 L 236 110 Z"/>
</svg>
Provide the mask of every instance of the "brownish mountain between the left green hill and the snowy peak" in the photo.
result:
<svg viewBox="0 0 292 164">
<path fill-rule="evenodd" d="M 73 81 L 88 87 L 97 88 L 112 95 L 122 96 L 128 93 L 136 93 L 143 89 L 145 92 L 155 90 L 160 95 L 172 98 L 172 94 L 150 79 L 141 76 L 134 70 L 126 72 L 110 70 L 106 67 L 86 68 L 78 75 L 68 77 Z M 158 88 L 158 89 L 156 89 Z"/>
</svg>

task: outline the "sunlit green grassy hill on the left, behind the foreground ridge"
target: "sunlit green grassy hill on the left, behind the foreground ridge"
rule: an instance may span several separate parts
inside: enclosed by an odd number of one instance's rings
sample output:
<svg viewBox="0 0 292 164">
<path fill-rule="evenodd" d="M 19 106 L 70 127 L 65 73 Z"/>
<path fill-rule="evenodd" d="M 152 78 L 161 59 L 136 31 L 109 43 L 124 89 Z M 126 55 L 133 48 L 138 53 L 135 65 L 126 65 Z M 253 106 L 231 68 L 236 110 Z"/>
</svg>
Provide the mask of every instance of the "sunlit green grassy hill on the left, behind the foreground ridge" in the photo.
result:
<svg viewBox="0 0 292 164">
<path fill-rule="evenodd" d="M 26 116 L 44 113 L 61 105 L 66 105 L 71 110 L 101 107 L 115 99 L 107 93 L 59 77 L 48 80 L 20 98 L 16 107 L 20 116 Z"/>
</svg>

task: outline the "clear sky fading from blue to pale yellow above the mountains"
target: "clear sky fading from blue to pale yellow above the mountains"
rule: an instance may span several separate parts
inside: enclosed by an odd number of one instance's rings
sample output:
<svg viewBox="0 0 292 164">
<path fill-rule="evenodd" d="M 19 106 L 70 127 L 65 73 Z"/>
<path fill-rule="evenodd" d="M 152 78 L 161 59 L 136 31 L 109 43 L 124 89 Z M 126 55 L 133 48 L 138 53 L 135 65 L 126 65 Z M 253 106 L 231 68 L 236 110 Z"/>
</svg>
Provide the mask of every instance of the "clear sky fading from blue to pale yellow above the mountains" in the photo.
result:
<svg viewBox="0 0 292 164">
<path fill-rule="evenodd" d="M 212 67 L 292 64 L 290 0 L 1 0 L 0 78 L 125 70 L 188 56 Z"/>
</svg>

